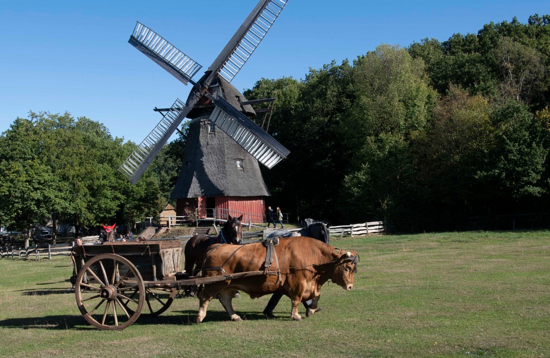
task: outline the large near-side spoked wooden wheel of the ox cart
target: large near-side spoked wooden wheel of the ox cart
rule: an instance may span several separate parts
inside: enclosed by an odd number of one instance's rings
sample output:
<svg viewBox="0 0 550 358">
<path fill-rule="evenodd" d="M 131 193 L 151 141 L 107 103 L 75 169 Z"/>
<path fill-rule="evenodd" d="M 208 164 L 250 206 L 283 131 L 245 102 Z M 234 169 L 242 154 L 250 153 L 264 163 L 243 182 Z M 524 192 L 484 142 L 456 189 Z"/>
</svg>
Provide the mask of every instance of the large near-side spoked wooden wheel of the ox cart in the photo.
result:
<svg viewBox="0 0 550 358">
<path fill-rule="evenodd" d="M 145 302 L 145 286 L 138 269 L 115 254 L 98 255 L 86 262 L 76 276 L 74 292 L 84 319 L 94 327 L 111 331 L 134 323 Z"/>
</svg>

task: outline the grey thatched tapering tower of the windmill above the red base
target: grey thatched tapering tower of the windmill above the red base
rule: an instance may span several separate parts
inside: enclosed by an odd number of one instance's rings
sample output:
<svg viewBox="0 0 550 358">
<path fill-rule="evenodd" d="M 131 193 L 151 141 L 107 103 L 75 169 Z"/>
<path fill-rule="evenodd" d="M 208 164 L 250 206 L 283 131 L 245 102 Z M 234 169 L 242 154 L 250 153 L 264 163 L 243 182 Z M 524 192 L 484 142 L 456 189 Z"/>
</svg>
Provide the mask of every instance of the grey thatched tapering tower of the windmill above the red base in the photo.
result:
<svg viewBox="0 0 550 358">
<path fill-rule="evenodd" d="M 241 160 L 241 168 L 237 166 Z M 172 199 L 196 197 L 270 196 L 256 158 L 226 133 L 201 117 L 189 124 L 183 167 L 172 192 Z"/>
</svg>

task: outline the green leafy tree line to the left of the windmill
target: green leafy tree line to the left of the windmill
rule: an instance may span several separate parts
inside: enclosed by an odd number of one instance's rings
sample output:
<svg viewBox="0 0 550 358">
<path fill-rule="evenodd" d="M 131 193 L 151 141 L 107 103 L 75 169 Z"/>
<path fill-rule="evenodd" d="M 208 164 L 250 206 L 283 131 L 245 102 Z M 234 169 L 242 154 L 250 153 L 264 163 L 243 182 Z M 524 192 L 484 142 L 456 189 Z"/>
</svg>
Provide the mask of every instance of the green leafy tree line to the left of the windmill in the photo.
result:
<svg viewBox="0 0 550 358">
<path fill-rule="evenodd" d="M 69 113 L 16 119 L 0 136 L 0 223 L 28 237 L 32 225 L 49 220 L 78 233 L 152 215 L 166 201 L 158 178 L 149 172 L 133 186 L 117 171 L 134 146 Z"/>
</svg>

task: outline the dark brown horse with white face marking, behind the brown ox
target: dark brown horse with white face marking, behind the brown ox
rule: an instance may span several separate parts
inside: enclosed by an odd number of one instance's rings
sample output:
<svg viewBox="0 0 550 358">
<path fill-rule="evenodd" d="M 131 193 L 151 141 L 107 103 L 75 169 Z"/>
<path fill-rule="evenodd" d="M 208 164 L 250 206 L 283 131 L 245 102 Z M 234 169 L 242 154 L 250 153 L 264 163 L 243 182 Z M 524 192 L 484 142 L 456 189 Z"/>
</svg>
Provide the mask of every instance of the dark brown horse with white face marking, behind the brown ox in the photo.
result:
<svg viewBox="0 0 550 358">
<path fill-rule="evenodd" d="M 205 260 L 208 247 L 213 244 L 233 244 L 241 243 L 241 223 L 243 215 L 231 217 L 223 225 L 218 236 L 195 235 L 185 244 L 185 272 L 194 276 L 194 273 L 200 271 L 202 262 Z"/>
</svg>

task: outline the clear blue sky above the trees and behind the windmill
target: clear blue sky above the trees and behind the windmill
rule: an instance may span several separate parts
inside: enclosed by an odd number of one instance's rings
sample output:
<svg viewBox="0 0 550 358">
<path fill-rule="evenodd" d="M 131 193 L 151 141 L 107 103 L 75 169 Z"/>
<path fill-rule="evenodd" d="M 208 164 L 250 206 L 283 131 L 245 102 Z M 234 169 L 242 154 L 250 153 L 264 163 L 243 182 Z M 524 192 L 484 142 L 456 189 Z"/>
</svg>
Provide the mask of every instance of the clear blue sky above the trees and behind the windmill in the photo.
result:
<svg viewBox="0 0 550 358">
<path fill-rule="evenodd" d="M 128 43 L 140 21 L 210 66 L 257 0 L 25 1 L 0 5 L 0 132 L 29 110 L 87 116 L 113 136 L 141 140 L 185 99 L 184 86 Z M 304 78 L 309 68 L 354 59 L 381 43 L 447 40 L 483 24 L 550 13 L 550 1 L 289 0 L 233 80 Z M 200 77 L 199 74 L 196 75 Z"/>
</svg>

